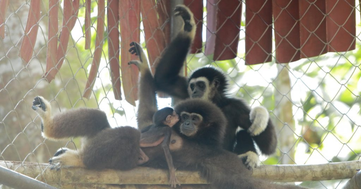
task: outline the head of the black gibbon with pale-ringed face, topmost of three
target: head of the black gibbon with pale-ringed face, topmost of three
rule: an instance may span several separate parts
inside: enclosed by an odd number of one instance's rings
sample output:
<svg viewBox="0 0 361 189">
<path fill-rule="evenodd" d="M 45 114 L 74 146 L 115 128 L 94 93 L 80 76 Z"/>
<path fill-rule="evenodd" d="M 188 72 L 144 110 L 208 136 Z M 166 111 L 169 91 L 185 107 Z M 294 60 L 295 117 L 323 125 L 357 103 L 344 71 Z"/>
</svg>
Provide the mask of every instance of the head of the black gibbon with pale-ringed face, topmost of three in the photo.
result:
<svg viewBox="0 0 361 189">
<path fill-rule="evenodd" d="M 216 94 L 224 94 L 226 88 L 226 76 L 215 67 L 201 67 L 188 79 L 188 94 L 191 98 L 212 100 Z"/>
</svg>

